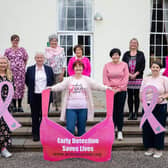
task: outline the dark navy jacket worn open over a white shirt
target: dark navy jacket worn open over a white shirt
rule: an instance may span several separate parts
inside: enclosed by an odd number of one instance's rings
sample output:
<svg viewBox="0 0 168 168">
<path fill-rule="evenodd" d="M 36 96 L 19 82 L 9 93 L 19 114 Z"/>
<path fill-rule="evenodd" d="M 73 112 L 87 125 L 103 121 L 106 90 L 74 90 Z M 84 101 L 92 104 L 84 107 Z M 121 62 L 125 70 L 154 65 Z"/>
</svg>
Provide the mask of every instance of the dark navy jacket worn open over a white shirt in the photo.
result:
<svg viewBox="0 0 168 168">
<path fill-rule="evenodd" d="M 35 89 L 35 69 L 36 66 L 30 66 L 27 68 L 26 72 L 26 85 L 28 87 L 28 104 L 32 104 L 34 89 Z M 54 84 L 54 73 L 51 67 L 44 65 L 44 69 L 47 76 L 47 86 L 52 86 Z M 52 101 L 52 98 L 50 98 Z"/>
</svg>

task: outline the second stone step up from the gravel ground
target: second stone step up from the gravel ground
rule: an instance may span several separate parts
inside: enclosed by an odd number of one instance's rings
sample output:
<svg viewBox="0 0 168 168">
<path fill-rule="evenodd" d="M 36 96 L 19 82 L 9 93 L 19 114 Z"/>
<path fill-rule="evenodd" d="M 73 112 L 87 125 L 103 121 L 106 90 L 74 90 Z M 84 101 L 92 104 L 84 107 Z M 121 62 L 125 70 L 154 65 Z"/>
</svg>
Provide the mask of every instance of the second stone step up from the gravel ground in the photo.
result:
<svg viewBox="0 0 168 168">
<path fill-rule="evenodd" d="M 91 129 L 91 126 L 86 127 L 86 131 Z M 138 127 L 132 127 L 132 126 L 124 126 L 123 127 L 123 135 L 124 137 L 141 137 L 142 136 L 142 130 Z M 16 129 L 14 132 L 12 132 L 12 137 L 31 137 L 32 136 L 32 128 L 31 127 L 21 127 Z M 168 136 L 168 130 L 166 130 L 166 136 Z"/>
</svg>

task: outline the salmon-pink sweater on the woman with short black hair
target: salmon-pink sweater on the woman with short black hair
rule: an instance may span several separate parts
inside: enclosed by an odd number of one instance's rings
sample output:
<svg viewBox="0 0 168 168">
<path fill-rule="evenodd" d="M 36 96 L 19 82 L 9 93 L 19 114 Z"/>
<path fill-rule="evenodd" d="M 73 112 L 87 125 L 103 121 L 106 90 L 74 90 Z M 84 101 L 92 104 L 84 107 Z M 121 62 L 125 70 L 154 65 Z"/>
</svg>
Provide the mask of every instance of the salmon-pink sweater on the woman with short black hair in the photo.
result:
<svg viewBox="0 0 168 168">
<path fill-rule="evenodd" d="M 125 62 L 114 64 L 107 63 L 103 69 L 103 83 L 120 91 L 127 90 L 128 84 L 128 65 Z"/>
</svg>

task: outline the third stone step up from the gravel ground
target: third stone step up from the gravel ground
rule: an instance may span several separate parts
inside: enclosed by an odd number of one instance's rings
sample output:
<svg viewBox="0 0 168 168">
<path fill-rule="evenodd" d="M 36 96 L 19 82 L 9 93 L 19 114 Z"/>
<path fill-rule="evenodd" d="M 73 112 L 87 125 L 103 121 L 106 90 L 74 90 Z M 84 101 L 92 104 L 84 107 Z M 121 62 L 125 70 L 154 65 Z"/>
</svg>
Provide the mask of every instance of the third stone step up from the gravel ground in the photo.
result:
<svg viewBox="0 0 168 168">
<path fill-rule="evenodd" d="M 60 121 L 58 117 L 49 117 L 52 121 L 65 126 L 65 122 Z M 94 121 L 88 121 L 87 126 L 93 126 L 101 121 L 103 121 L 105 118 L 104 117 L 95 117 Z M 137 126 L 140 124 L 140 117 L 138 117 L 138 120 L 128 120 L 126 117 L 124 117 L 124 125 L 132 125 L 132 126 Z M 31 126 L 32 125 L 32 120 L 31 117 L 16 117 L 16 120 L 22 124 L 22 126 Z M 168 125 L 168 121 L 166 123 Z"/>
</svg>

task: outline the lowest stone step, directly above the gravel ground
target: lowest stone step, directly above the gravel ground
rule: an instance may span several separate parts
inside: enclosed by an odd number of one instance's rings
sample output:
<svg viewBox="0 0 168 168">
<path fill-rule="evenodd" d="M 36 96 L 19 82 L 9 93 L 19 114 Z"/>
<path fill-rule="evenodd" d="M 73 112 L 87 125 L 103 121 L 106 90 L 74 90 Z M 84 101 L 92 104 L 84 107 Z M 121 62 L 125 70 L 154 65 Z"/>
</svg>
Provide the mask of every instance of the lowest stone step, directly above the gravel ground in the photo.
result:
<svg viewBox="0 0 168 168">
<path fill-rule="evenodd" d="M 13 152 L 42 151 L 40 142 L 33 142 L 31 138 L 13 138 L 11 150 Z M 141 137 L 127 137 L 123 141 L 114 141 L 112 150 L 144 150 Z M 165 138 L 165 150 L 168 150 L 168 137 Z"/>
</svg>

